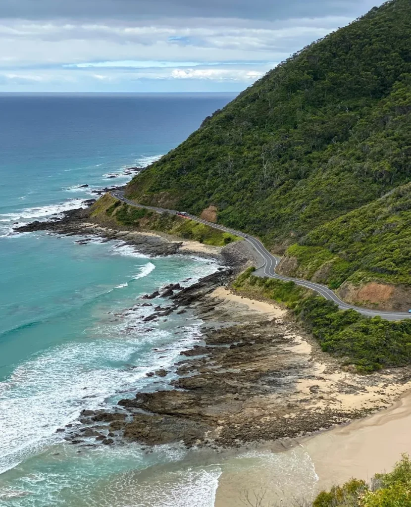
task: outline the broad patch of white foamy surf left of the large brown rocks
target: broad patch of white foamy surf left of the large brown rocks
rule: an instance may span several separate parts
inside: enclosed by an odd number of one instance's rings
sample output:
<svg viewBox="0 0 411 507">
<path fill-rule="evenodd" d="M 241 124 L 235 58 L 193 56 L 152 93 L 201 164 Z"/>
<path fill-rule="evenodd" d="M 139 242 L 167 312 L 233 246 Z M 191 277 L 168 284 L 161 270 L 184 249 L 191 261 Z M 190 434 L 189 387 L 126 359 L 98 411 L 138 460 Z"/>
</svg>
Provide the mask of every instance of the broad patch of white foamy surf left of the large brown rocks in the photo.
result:
<svg viewBox="0 0 411 507">
<path fill-rule="evenodd" d="M 152 269 L 143 268 L 148 267 Z M 173 328 L 168 331 L 162 329 L 161 322 L 141 322 L 141 316 L 153 311 L 153 307 L 144 307 L 138 312 L 102 315 L 86 330 L 87 343 L 47 350 L 18 366 L 0 384 L 0 474 L 61 441 L 56 428 L 72 422 L 83 408 L 101 408 L 110 397 L 120 399 L 122 392 L 144 388 L 152 382 L 146 377 L 148 372 L 170 368 L 179 352 L 193 345 L 199 321 L 177 342 Z M 148 326 L 152 332 L 144 333 Z M 136 353 L 138 365 L 127 367 Z M 111 366 L 119 361 L 124 363 L 123 369 Z"/>
</svg>

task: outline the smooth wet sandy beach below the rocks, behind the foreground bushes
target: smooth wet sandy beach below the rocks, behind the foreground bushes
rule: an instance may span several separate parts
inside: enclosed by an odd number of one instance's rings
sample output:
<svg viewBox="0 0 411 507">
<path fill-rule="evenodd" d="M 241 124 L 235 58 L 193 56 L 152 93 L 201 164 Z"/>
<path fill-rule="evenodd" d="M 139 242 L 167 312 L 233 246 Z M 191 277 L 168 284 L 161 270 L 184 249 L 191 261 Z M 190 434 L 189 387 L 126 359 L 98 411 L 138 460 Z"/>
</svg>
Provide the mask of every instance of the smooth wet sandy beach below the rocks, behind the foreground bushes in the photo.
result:
<svg viewBox="0 0 411 507">
<path fill-rule="evenodd" d="M 352 477 L 367 481 L 390 471 L 402 453 L 411 455 L 411 392 L 378 414 L 289 444 L 295 447 L 223 466 L 215 507 L 238 507 L 244 490 L 265 490 L 267 505 L 281 505 L 281 498 L 311 500 Z"/>
</svg>

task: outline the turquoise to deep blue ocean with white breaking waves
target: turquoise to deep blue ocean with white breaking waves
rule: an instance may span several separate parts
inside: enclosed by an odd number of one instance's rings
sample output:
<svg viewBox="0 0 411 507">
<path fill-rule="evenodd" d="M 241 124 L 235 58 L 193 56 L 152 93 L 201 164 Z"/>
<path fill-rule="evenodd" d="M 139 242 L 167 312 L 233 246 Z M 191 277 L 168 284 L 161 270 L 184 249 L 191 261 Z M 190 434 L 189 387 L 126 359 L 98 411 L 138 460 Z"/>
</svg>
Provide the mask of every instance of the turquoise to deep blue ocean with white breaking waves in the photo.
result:
<svg viewBox="0 0 411 507">
<path fill-rule="evenodd" d="M 0 94 L 2 505 L 212 507 L 224 467 L 267 469 L 273 462 L 272 455 L 244 455 L 223 464 L 179 446 L 147 452 L 136 444 L 79 448 L 62 440 L 56 429 L 81 410 L 165 387 L 146 373 L 170 366 L 202 322 L 171 315 L 145 333 L 141 312 L 123 311 L 159 286 L 218 266 L 186 256 L 147 258 L 118 241 L 79 245 L 77 237 L 13 232 L 79 207 L 93 189 L 126 183 L 127 167 L 157 160 L 232 98 Z M 295 452 L 290 463 L 305 463 L 311 484 L 315 472 Z M 278 470 L 285 458 L 275 459 Z"/>
</svg>

